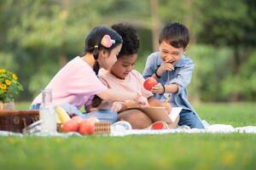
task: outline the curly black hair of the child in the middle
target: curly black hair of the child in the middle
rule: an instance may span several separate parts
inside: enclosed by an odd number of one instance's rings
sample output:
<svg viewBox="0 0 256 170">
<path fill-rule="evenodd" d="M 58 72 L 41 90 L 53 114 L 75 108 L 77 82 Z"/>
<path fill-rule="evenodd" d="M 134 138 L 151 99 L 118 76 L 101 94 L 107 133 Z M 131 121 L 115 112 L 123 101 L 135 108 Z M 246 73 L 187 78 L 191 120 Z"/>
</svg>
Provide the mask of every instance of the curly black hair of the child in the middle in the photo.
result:
<svg viewBox="0 0 256 170">
<path fill-rule="evenodd" d="M 137 35 L 136 28 L 130 24 L 124 23 L 115 24 L 111 26 L 111 28 L 114 31 L 117 31 L 123 38 L 123 45 L 117 58 L 124 55 L 137 54 L 138 48 L 140 46 L 140 39 Z"/>
</svg>

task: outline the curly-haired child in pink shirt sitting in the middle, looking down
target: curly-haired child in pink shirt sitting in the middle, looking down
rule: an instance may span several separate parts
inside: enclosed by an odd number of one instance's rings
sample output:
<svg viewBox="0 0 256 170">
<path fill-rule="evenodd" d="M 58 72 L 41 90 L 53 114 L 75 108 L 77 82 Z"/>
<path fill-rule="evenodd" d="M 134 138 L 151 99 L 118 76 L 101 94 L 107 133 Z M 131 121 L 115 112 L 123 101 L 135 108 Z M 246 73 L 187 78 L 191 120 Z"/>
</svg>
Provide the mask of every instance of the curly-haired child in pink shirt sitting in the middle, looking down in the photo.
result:
<svg viewBox="0 0 256 170">
<path fill-rule="evenodd" d="M 160 100 L 154 98 L 150 91 L 143 88 L 143 82 L 145 81 L 143 76 L 138 71 L 133 70 L 137 60 L 137 49 L 139 48 L 136 29 L 123 24 L 114 25 L 112 28 L 123 38 L 123 46 L 115 64 L 108 71 L 100 70 L 100 79 L 108 88 L 112 88 L 115 91 L 124 93 L 139 91 L 148 99 L 149 105 L 164 106 Z M 129 104 L 131 105 L 131 101 L 129 101 Z M 119 108 L 119 120 L 130 122 L 132 128 L 145 128 L 153 123 L 150 117 L 143 111 L 137 109 L 128 110 L 128 103 L 123 102 L 121 106 Z M 104 107 L 104 105 L 102 104 L 100 107 Z M 171 108 L 167 107 L 166 110 L 170 112 Z M 178 118 L 176 122 L 172 122 L 171 119 L 166 120 L 166 122 L 169 128 L 177 127 Z"/>
</svg>

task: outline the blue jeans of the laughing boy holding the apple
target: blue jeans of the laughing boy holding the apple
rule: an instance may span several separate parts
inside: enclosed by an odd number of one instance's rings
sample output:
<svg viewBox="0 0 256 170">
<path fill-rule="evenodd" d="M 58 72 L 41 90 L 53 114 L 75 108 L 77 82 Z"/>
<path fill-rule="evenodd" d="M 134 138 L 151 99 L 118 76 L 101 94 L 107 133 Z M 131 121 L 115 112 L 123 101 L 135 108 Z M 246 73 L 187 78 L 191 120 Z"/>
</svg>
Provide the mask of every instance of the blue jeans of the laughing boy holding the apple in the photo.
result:
<svg viewBox="0 0 256 170">
<path fill-rule="evenodd" d="M 199 116 L 193 111 L 182 110 L 179 114 L 179 126 L 187 125 L 190 128 L 205 128 Z"/>
</svg>

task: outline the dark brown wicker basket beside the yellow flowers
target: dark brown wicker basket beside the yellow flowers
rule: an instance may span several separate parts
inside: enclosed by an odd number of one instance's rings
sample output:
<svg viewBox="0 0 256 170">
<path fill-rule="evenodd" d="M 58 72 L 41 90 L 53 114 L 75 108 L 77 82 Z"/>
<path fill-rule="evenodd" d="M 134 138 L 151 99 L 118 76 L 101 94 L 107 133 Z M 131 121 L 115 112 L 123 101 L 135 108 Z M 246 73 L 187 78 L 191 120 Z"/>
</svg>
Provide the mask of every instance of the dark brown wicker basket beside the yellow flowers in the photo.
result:
<svg viewBox="0 0 256 170">
<path fill-rule="evenodd" d="M 0 130 L 22 133 L 22 129 L 39 120 L 39 111 L 0 111 Z"/>
</svg>

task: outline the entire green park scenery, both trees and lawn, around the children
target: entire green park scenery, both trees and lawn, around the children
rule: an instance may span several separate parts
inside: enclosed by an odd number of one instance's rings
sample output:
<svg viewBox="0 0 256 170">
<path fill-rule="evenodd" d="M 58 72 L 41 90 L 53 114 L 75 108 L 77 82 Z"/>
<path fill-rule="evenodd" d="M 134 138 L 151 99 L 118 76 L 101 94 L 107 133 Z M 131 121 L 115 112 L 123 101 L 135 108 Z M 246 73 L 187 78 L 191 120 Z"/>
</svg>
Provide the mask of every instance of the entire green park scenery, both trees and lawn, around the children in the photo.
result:
<svg viewBox="0 0 256 170">
<path fill-rule="evenodd" d="M 24 87 L 16 108 L 27 109 L 63 65 L 83 54 L 93 27 L 136 26 L 141 38 L 136 69 L 142 72 L 170 21 L 190 31 L 187 55 L 195 71 L 189 99 L 199 115 L 210 124 L 255 126 L 255 0 L 0 0 L 0 68 L 15 72 Z M 255 169 L 255 139 L 246 133 L 1 137 L 0 167 Z"/>
</svg>

